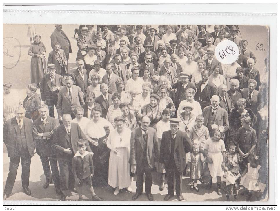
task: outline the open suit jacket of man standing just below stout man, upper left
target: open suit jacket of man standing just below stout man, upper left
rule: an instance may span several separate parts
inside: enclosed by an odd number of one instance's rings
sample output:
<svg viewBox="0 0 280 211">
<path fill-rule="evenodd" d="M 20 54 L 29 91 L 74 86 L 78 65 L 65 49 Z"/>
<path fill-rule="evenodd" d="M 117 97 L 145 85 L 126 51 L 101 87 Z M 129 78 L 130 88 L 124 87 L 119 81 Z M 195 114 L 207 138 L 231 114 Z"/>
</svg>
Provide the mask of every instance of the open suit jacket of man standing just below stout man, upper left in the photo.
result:
<svg viewBox="0 0 280 211">
<path fill-rule="evenodd" d="M 67 65 L 64 65 L 64 62 L 67 61 L 67 58 L 63 50 L 59 49 L 59 52 L 61 55 L 62 64 L 60 63 L 59 55 L 55 50 L 49 53 L 48 64 L 55 64 L 57 67 L 56 73 L 64 76 L 68 74 Z"/>
</svg>

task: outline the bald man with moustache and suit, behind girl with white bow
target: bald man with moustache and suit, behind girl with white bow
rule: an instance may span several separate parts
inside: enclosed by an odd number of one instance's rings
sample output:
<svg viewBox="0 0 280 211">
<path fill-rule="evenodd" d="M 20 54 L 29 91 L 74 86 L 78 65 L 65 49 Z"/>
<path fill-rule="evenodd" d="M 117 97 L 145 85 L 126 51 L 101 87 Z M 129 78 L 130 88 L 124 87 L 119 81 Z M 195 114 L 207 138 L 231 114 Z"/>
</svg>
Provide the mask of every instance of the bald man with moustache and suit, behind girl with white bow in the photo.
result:
<svg viewBox="0 0 280 211">
<path fill-rule="evenodd" d="M 203 109 L 202 116 L 204 117 L 203 125 L 209 130 L 210 137 L 213 137 L 213 129 L 211 125 L 218 125 L 224 127 L 224 132 L 228 130 L 228 112 L 223 109 L 220 104 L 220 98 L 213 95 L 211 98 L 211 105 Z M 223 138 L 222 138 L 223 139 Z"/>
</svg>

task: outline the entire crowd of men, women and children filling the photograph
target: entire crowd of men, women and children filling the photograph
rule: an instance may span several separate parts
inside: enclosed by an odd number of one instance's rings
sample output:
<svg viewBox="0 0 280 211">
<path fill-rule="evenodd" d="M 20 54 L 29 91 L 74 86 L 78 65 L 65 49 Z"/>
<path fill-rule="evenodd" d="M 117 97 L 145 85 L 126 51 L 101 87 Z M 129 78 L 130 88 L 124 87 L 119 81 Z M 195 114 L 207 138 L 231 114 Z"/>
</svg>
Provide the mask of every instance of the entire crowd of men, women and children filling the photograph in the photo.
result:
<svg viewBox="0 0 280 211">
<path fill-rule="evenodd" d="M 35 149 L 43 188 L 53 181 L 61 200 L 71 191 L 82 200 L 82 186 L 92 200 L 106 200 L 94 192 L 97 178 L 114 195 L 133 192 L 137 177 L 136 200 L 145 175 L 153 201 L 153 170 L 159 190 L 167 184 L 166 201 L 174 195 L 174 177 L 177 199 L 184 199 L 183 175 L 192 191 L 201 191 L 198 181 L 212 189 L 215 177 L 215 190 L 227 201 L 231 195 L 237 201 L 240 186 L 244 200 L 261 199 L 268 189 L 268 59 L 257 70 L 261 61 L 247 47 L 250 40 L 238 35 L 238 26 L 80 25 L 72 71 L 62 25 L 50 36 L 49 54 L 34 34 L 24 101 L 10 82 L 3 84 L 3 142 L 10 158 L 3 199 L 12 193 L 20 159 L 23 191 L 31 195 Z M 239 47 L 232 64 L 215 58 L 223 40 Z"/>
</svg>

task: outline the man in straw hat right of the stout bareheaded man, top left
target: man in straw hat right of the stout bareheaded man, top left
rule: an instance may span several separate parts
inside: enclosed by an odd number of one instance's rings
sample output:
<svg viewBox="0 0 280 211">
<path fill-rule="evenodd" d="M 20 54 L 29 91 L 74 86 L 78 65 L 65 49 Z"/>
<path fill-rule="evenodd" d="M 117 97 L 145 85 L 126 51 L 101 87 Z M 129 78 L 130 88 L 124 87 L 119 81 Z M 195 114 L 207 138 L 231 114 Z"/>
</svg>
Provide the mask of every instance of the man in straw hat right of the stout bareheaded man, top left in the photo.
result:
<svg viewBox="0 0 280 211">
<path fill-rule="evenodd" d="M 79 48 L 76 61 L 83 59 L 84 56 L 88 53 L 88 47 L 93 44 L 92 39 L 88 36 L 88 27 L 81 28 L 81 36 L 76 38 L 77 46 Z"/>
</svg>

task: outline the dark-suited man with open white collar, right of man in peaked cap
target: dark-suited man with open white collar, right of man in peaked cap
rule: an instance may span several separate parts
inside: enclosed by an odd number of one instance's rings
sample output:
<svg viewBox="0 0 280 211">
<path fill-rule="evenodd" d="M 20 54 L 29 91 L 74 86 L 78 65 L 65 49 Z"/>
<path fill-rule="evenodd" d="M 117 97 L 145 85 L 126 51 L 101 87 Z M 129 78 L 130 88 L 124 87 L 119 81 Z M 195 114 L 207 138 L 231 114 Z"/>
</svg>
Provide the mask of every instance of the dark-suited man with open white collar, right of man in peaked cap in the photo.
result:
<svg viewBox="0 0 280 211">
<path fill-rule="evenodd" d="M 198 82 L 197 92 L 195 93 L 194 100 L 199 102 L 201 109 L 210 104 L 211 97 L 218 95 L 219 91 L 215 84 L 209 81 L 209 71 L 204 70 L 201 72 L 202 81 Z"/>
</svg>

